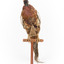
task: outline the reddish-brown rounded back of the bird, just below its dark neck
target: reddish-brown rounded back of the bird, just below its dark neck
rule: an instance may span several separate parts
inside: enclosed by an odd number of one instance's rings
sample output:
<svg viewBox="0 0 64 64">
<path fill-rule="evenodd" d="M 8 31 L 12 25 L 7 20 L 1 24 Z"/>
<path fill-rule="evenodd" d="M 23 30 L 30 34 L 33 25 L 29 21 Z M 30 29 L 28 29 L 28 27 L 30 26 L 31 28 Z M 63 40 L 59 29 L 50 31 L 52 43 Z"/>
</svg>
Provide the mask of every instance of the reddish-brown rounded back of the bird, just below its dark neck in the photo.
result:
<svg viewBox="0 0 64 64">
<path fill-rule="evenodd" d="M 30 25 L 36 22 L 37 20 L 37 11 L 31 5 L 23 6 L 21 15 L 24 21 Z"/>
</svg>

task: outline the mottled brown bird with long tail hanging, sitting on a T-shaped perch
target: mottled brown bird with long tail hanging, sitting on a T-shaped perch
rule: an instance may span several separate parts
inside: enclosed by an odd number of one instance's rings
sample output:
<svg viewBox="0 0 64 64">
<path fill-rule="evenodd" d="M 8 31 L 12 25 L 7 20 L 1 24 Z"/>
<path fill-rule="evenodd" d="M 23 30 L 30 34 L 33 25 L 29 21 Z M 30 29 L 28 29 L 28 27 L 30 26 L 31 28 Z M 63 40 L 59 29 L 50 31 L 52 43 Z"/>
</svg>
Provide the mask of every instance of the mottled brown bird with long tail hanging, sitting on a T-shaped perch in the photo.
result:
<svg viewBox="0 0 64 64">
<path fill-rule="evenodd" d="M 28 34 L 28 39 L 37 39 L 37 41 L 33 43 L 33 51 L 35 54 L 35 61 L 38 62 L 38 39 L 41 24 L 40 17 L 38 11 L 29 4 L 28 0 L 23 0 L 23 3 L 24 5 L 20 16 L 22 20 L 21 23 Z"/>
</svg>

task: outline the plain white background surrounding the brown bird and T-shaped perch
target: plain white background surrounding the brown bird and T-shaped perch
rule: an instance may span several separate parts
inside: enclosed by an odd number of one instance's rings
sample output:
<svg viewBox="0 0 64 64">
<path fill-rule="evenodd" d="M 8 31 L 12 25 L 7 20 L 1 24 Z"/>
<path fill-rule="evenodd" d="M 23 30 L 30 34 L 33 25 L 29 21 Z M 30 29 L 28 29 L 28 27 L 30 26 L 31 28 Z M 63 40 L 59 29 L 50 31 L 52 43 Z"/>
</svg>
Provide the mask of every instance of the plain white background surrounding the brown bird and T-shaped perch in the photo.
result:
<svg viewBox="0 0 64 64">
<path fill-rule="evenodd" d="M 40 13 L 39 60 L 64 64 L 64 0 L 29 0 Z M 30 43 L 20 23 L 22 0 L 0 0 L 0 64 L 30 64 Z M 34 64 L 37 64 L 34 61 Z"/>
</svg>

